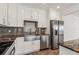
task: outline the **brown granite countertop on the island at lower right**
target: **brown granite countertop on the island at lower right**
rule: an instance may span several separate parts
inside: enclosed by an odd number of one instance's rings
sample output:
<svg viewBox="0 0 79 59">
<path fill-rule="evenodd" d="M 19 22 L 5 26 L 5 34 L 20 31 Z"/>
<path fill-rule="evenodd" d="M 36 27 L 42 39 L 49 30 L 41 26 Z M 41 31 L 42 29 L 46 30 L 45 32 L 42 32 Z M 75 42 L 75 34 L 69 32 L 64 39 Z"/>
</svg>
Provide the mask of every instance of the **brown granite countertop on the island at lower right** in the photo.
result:
<svg viewBox="0 0 79 59">
<path fill-rule="evenodd" d="M 79 39 L 66 41 L 59 45 L 79 53 Z"/>
</svg>

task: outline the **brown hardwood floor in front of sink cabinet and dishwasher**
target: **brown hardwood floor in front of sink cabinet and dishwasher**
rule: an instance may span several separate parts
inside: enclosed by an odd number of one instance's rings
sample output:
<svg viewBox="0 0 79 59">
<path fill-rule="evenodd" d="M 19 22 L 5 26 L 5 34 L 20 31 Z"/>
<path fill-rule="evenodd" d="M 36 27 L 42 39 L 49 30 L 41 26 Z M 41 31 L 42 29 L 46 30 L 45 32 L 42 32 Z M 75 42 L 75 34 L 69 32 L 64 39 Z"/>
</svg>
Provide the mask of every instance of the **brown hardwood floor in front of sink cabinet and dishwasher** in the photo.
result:
<svg viewBox="0 0 79 59">
<path fill-rule="evenodd" d="M 32 53 L 32 55 L 59 55 L 59 50 L 46 49 Z"/>
</svg>

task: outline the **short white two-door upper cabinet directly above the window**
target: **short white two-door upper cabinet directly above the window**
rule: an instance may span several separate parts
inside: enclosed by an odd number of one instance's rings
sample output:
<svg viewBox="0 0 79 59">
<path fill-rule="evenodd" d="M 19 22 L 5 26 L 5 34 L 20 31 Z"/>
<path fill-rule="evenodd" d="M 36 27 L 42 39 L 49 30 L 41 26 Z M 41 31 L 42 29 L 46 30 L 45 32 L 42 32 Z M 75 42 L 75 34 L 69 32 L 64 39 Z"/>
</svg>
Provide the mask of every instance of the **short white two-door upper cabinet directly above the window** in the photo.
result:
<svg viewBox="0 0 79 59">
<path fill-rule="evenodd" d="M 38 10 L 34 8 L 25 8 L 24 9 L 24 19 L 25 20 L 32 20 L 37 21 L 38 19 Z"/>
</svg>

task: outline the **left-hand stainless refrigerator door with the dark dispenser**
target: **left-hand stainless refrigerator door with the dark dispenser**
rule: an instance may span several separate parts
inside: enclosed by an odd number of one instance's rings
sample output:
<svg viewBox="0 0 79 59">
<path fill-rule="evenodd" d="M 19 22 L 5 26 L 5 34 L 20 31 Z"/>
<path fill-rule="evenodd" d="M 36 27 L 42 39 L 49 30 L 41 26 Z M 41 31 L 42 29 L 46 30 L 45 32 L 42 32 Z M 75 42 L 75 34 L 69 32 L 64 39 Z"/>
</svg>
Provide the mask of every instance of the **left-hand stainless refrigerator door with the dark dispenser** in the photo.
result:
<svg viewBox="0 0 79 59">
<path fill-rule="evenodd" d="M 52 22 L 52 39 L 51 39 L 51 43 L 52 43 L 52 46 L 51 48 L 52 49 L 57 49 L 58 48 L 58 21 L 57 20 L 54 20 Z"/>
</svg>

